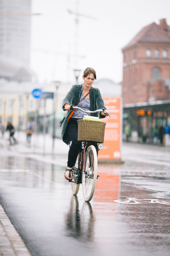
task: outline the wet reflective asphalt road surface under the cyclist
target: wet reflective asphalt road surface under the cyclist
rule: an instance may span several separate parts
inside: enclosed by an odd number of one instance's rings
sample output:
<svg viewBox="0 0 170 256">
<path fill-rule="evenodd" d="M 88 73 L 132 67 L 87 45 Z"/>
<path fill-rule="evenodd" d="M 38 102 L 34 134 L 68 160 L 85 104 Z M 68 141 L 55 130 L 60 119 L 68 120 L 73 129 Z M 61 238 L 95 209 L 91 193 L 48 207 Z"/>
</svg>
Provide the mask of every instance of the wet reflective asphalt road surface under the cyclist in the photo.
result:
<svg viewBox="0 0 170 256">
<path fill-rule="evenodd" d="M 33 256 L 170 255 L 170 150 L 124 148 L 124 164 L 98 166 L 90 203 L 59 163 L 0 148 L 0 203 Z M 165 204 L 114 201 L 127 197 Z"/>
</svg>

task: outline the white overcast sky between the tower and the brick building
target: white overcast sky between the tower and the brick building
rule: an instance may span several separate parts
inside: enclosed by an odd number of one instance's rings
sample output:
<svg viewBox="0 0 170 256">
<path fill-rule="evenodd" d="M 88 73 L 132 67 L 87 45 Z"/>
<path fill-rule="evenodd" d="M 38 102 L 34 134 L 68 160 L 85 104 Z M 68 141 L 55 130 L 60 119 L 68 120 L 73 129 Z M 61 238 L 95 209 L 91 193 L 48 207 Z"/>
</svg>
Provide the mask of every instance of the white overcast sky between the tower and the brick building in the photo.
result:
<svg viewBox="0 0 170 256">
<path fill-rule="evenodd" d="M 78 25 L 68 10 L 80 14 Z M 32 0 L 32 13 L 41 13 L 31 25 L 31 67 L 39 82 L 75 83 L 73 69 L 81 70 L 82 82 L 92 67 L 97 79 L 119 83 L 121 49 L 153 22 L 166 18 L 170 25 L 170 0 Z"/>
</svg>

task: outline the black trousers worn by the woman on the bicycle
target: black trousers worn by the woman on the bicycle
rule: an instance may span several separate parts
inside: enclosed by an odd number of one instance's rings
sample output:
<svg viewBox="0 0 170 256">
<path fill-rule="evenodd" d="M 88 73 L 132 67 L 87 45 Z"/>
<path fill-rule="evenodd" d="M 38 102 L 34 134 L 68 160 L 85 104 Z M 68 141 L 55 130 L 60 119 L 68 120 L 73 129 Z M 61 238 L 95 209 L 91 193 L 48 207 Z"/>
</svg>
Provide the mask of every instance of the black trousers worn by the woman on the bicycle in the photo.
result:
<svg viewBox="0 0 170 256">
<path fill-rule="evenodd" d="M 82 141 L 78 141 L 78 123 L 77 120 L 80 118 L 70 117 L 69 122 L 67 124 L 67 135 L 69 139 L 72 141 L 69 152 L 68 152 L 68 167 L 73 167 L 75 165 L 77 156 L 79 154 L 80 148 L 82 146 Z M 96 151 L 98 154 L 98 144 L 97 142 L 92 143 L 96 147 Z"/>
</svg>

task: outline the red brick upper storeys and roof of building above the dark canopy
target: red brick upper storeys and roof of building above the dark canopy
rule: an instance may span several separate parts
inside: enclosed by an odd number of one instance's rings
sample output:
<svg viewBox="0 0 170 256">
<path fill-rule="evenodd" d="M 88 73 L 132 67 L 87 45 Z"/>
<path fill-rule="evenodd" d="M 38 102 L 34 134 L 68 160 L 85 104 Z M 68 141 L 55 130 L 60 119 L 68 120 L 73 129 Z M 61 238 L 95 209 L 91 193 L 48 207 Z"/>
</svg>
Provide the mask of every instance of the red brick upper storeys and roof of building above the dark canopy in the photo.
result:
<svg viewBox="0 0 170 256">
<path fill-rule="evenodd" d="M 143 28 L 123 49 L 123 103 L 170 99 L 170 26 Z"/>
</svg>

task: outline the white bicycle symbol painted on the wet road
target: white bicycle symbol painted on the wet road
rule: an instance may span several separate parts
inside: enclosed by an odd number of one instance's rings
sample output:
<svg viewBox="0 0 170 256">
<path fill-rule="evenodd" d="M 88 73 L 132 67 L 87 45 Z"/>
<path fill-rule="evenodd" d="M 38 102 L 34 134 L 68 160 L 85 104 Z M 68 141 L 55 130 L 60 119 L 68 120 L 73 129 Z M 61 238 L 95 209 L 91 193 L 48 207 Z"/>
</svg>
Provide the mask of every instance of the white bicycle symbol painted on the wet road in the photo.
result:
<svg viewBox="0 0 170 256">
<path fill-rule="evenodd" d="M 143 199 L 137 199 L 136 197 L 126 197 L 126 199 L 118 199 L 114 200 L 116 203 L 130 203 L 130 204 L 137 204 L 139 202 L 147 202 L 147 203 L 161 203 L 161 204 L 168 204 L 170 205 L 170 200 L 160 200 L 160 199 L 153 199 L 153 198 L 143 198 Z"/>
</svg>

